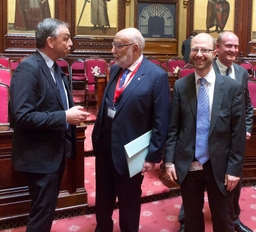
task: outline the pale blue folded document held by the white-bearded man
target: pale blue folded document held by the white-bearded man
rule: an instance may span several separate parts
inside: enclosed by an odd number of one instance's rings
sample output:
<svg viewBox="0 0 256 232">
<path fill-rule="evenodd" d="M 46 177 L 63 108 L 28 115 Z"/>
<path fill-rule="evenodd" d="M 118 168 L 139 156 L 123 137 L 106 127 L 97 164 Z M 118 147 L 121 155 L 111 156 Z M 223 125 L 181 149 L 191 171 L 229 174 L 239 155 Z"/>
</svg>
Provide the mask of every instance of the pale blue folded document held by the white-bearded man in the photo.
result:
<svg viewBox="0 0 256 232">
<path fill-rule="evenodd" d="M 148 154 L 148 146 L 152 130 L 124 145 L 130 177 L 141 172 L 144 160 Z"/>
</svg>

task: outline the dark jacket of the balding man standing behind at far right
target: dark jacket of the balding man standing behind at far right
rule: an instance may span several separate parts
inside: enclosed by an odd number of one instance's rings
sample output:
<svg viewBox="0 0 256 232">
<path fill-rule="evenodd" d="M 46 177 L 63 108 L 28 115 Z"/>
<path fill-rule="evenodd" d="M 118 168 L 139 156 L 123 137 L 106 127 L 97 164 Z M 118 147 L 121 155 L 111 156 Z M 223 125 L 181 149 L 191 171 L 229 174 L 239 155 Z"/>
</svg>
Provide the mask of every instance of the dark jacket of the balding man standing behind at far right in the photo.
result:
<svg viewBox="0 0 256 232">
<path fill-rule="evenodd" d="M 219 67 L 216 61 L 213 62 L 213 68 L 215 72 L 220 73 Z M 246 131 L 251 133 L 252 131 L 252 123 L 253 123 L 253 107 L 250 98 L 250 93 L 248 90 L 248 72 L 245 68 L 241 65 L 234 63 L 234 70 L 235 70 L 235 78 L 238 82 L 240 82 L 244 87 L 244 94 L 245 94 L 245 106 L 246 106 Z"/>
</svg>

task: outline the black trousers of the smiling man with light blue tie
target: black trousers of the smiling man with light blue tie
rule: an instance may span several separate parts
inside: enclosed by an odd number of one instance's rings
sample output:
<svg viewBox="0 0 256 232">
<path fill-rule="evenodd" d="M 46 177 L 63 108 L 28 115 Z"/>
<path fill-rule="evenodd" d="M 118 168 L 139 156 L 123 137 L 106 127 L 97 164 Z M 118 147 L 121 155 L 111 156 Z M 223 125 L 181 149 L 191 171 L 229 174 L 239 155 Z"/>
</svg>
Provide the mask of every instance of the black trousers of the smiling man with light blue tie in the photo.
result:
<svg viewBox="0 0 256 232">
<path fill-rule="evenodd" d="M 223 195 L 215 181 L 211 162 L 203 170 L 188 172 L 181 183 L 182 200 L 185 210 L 185 231 L 204 232 L 204 192 L 208 194 L 214 232 L 234 232 L 233 194 Z M 224 184 L 224 180 L 223 180 Z"/>
</svg>

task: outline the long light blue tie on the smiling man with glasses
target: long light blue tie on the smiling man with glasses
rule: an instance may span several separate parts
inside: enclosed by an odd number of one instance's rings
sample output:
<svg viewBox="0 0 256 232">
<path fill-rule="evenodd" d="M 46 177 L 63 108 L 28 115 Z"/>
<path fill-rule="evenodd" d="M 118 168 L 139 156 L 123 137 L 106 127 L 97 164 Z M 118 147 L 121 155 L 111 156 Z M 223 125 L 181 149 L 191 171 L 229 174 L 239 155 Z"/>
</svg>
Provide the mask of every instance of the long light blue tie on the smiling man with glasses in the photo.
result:
<svg viewBox="0 0 256 232">
<path fill-rule="evenodd" d="M 200 78 L 200 87 L 197 100 L 197 118 L 196 118 L 196 159 L 204 164 L 210 158 L 209 154 L 209 98 L 205 89 L 205 79 Z"/>
</svg>

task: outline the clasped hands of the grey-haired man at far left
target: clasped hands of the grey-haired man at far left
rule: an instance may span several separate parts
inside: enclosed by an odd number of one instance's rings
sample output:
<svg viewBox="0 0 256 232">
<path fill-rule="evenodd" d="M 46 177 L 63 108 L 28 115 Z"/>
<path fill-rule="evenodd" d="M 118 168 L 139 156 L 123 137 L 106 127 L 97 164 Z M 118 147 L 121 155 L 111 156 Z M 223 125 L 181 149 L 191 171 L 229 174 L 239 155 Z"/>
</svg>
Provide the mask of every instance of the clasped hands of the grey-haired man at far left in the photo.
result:
<svg viewBox="0 0 256 232">
<path fill-rule="evenodd" d="M 66 120 L 69 124 L 79 126 L 90 114 L 82 106 L 73 106 L 66 110 Z"/>
</svg>

